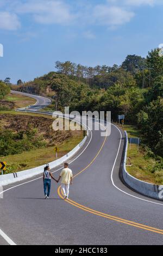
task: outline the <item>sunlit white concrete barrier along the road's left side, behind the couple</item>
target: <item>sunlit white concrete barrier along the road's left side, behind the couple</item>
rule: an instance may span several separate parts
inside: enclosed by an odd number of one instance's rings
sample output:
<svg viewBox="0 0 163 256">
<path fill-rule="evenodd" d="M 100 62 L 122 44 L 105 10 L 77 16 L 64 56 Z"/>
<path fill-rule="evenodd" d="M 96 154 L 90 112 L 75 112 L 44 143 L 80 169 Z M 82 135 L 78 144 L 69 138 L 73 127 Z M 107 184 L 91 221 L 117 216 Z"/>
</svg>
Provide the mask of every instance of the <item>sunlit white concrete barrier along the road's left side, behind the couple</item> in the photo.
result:
<svg viewBox="0 0 163 256">
<path fill-rule="evenodd" d="M 54 167 L 59 166 L 60 164 L 66 162 L 68 159 L 70 159 L 74 154 L 78 152 L 80 148 L 83 147 L 84 143 L 86 142 L 87 136 L 84 137 L 83 141 L 80 142 L 74 149 L 72 149 L 68 154 L 65 156 L 62 156 L 60 159 L 55 160 L 51 163 L 49 163 L 49 167 L 52 169 Z M 43 173 L 43 169 L 46 166 L 46 164 L 43 164 L 42 166 L 28 169 L 28 170 L 22 170 L 21 172 L 17 173 L 10 173 L 0 176 L 0 186 L 5 186 L 12 184 L 17 181 L 25 180 L 32 178 L 35 175 Z"/>
</svg>

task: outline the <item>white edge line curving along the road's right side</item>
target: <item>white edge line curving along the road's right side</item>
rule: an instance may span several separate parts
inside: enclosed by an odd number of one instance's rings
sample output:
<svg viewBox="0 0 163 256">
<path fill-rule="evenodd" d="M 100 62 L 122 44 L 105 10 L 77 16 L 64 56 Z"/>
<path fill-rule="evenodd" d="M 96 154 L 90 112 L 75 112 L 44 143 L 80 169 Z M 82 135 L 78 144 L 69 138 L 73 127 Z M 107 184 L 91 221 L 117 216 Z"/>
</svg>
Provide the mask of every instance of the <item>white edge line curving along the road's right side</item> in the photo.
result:
<svg viewBox="0 0 163 256">
<path fill-rule="evenodd" d="M 114 125 L 114 124 L 112 124 L 112 125 Z M 121 188 L 119 188 L 119 187 L 117 187 L 117 186 L 115 185 L 114 180 L 113 180 L 113 178 L 112 178 L 112 175 L 113 175 L 113 172 L 114 172 L 115 163 L 116 163 L 116 160 L 117 160 L 117 157 L 118 157 L 118 154 L 119 154 L 119 151 L 120 151 L 120 147 L 121 147 L 122 133 L 121 133 L 121 130 L 120 130 L 116 125 L 114 125 L 114 126 L 115 126 L 115 127 L 117 128 L 117 130 L 120 132 L 121 140 L 120 140 L 120 145 L 119 145 L 119 147 L 118 147 L 116 159 L 115 159 L 114 165 L 113 165 L 112 170 L 111 170 L 111 182 L 112 182 L 112 185 L 113 185 L 114 187 L 116 187 L 117 190 L 123 192 L 124 194 L 127 194 L 127 195 L 130 196 L 130 197 L 134 197 L 134 198 L 136 198 L 136 199 L 140 199 L 140 200 L 145 201 L 145 202 L 148 202 L 148 203 L 158 204 L 158 205 L 162 205 L 162 206 L 163 206 L 163 204 L 161 204 L 161 203 L 156 203 L 156 202 L 153 202 L 153 201 L 149 201 L 149 200 L 147 200 L 147 199 L 143 199 L 143 198 L 140 198 L 140 197 L 133 196 L 132 194 L 129 194 L 129 193 L 127 193 L 127 192 L 121 190 Z M 135 193 L 136 193 L 136 192 L 135 192 Z"/>
</svg>

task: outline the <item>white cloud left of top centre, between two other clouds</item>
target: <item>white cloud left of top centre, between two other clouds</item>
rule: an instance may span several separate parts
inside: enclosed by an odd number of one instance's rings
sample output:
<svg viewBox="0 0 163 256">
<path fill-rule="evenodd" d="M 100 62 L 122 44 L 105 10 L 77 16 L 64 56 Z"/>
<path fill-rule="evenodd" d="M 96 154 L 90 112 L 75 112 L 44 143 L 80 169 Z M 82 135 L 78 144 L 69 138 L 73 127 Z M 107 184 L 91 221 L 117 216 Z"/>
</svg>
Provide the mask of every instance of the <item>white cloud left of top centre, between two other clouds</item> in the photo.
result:
<svg viewBox="0 0 163 256">
<path fill-rule="evenodd" d="M 74 15 L 70 12 L 70 7 L 59 0 L 28 0 L 16 8 L 19 14 L 32 14 L 35 21 L 42 24 L 62 24 L 71 22 Z"/>
</svg>

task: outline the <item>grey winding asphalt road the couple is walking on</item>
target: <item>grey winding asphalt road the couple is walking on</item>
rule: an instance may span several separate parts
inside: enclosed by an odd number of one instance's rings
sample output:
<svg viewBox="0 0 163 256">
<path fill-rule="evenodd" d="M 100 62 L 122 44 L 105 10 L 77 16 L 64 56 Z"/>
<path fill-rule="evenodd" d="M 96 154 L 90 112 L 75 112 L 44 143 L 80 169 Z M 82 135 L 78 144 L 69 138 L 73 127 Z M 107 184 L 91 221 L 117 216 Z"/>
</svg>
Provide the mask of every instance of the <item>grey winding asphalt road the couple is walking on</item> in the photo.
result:
<svg viewBox="0 0 163 256">
<path fill-rule="evenodd" d="M 49 104 L 34 97 L 38 102 L 30 111 Z M 113 124 L 109 137 L 90 132 L 69 161 L 74 175 L 69 200 L 62 199 L 56 183 L 51 198 L 43 199 L 41 175 L 4 187 L 0 228 L 7 237 L 0 236 L 0 245 L 162 245 L 163 203 L 122 183 L 123 146 L 124 133 Z M 61 168 L 52 170 L 55 178 Z"/>
</svg>

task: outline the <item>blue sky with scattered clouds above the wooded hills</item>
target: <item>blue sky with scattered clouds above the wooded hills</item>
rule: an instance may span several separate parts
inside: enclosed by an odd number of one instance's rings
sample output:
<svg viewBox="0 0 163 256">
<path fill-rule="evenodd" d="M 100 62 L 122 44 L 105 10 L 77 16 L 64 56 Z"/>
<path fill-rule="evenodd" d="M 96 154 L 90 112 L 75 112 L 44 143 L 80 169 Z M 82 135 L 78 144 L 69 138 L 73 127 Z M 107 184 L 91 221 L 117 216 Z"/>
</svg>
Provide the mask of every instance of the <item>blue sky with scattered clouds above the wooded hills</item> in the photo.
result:
<svg viewBox="0 0 163 256">
<path fill-rule="evenodd" d="M 88 66 L 145 57 L 163 43 L 162 0 L 0 0 L 0 80 L 33 80 L 70 60 Z"/>
</svg>

